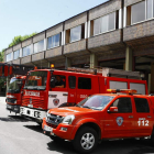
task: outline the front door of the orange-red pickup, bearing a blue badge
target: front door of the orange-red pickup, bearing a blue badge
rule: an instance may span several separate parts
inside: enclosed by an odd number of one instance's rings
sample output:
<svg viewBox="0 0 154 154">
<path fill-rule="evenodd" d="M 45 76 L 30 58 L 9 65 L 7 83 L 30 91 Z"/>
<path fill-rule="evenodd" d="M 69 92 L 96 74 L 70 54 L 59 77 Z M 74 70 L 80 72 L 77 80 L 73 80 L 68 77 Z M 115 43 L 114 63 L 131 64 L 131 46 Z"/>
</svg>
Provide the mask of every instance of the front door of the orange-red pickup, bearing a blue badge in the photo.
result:
<svg viewBox="0 0 154 154">
<path fill-rule="evenodd" d="M 107 112 L 105 116 L 103 129 L 106 138 L 130 136 L 134 129 L 131 97 L 120 97 L 110 107 L 118 107 L 118 112 Z"/>
</svg>

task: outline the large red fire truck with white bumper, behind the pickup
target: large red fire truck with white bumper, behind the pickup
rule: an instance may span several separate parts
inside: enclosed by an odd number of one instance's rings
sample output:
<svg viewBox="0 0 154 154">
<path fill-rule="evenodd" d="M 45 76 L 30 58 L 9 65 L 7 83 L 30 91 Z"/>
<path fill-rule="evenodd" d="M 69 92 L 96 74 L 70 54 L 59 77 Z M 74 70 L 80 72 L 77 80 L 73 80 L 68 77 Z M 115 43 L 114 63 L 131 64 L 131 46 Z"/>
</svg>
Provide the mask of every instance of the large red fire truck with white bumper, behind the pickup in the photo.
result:
<svg viewBox="0 0 154 154">
<path fill-rule="evenodd" d="M 135 72 L 112 68 L 31 70 L 23 90 L 21 116 L 42 122 L 48 109 L 74 106 L 94 94 L 107 94 L 109 88 L 136 89 L 147 95 L 146 81 Z"/>
</svg>

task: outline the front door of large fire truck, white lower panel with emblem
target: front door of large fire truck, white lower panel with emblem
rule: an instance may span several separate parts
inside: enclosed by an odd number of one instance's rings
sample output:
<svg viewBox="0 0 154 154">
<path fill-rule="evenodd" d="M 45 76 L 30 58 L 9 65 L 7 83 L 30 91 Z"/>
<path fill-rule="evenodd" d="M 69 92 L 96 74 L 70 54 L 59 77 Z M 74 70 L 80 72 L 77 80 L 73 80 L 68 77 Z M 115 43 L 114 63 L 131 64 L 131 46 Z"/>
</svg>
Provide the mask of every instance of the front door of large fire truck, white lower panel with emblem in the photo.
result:
<svg viewBox="0 0 154 154">
<path fill-rule="evenodd" d="M 68 98 L 68 81 L 67 76 L 61 73 L 55 73 L 52 78 L 55 78 L 55 87 L 51 87 L 48 91 L 48 109 L 58 108 L 62 103 L 67 102 Z"/>
</svg>

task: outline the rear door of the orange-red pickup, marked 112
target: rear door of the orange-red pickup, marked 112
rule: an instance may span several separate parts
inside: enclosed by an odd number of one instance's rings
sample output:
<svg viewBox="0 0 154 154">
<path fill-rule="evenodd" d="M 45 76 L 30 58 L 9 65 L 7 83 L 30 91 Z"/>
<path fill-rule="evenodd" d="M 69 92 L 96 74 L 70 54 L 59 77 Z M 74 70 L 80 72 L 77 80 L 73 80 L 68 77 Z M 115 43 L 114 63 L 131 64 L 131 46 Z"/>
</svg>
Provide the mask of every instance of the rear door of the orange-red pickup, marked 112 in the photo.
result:
<svg viewBox="0 0 154 154">
<path fill-rule="evenodd" d="M 146 98 L 134 97 L 135 103 L 135 136 L 151 135 L 153 129 L 153 110 Z"/>
</svg>

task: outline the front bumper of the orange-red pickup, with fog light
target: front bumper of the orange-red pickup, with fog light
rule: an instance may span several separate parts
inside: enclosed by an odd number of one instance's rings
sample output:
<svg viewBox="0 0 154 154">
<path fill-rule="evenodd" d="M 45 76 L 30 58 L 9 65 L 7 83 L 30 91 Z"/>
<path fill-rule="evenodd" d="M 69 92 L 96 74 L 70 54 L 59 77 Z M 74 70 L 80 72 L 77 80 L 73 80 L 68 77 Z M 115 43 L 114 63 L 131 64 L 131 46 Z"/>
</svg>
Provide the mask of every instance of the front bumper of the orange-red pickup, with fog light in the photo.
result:
<svg viewBox="0 0 154 154">
<path fill-rule="evenodd" d="M 46 120 L 45 118 L 43 119 L 43 123 L 42 123 L 42 129 L 43 129 L 43 133 L 46 134 L 46 135 L 56 135 L 61 139 L 64 139 L 64 140 L 74 140 L 74 135 L 73 135 L 73 131 L 75 129 L 75 125 L 72 125 L 72 124 L 63 124 L 63 123 L 59 123 L 57 125 L 57 128 L 52 128 L 52 131 L 48 131 L 48 130 L 45 130 L 44 128 L 45 127 L 50 127 L 50 124 L 46 123 Z"/>
</svg>

